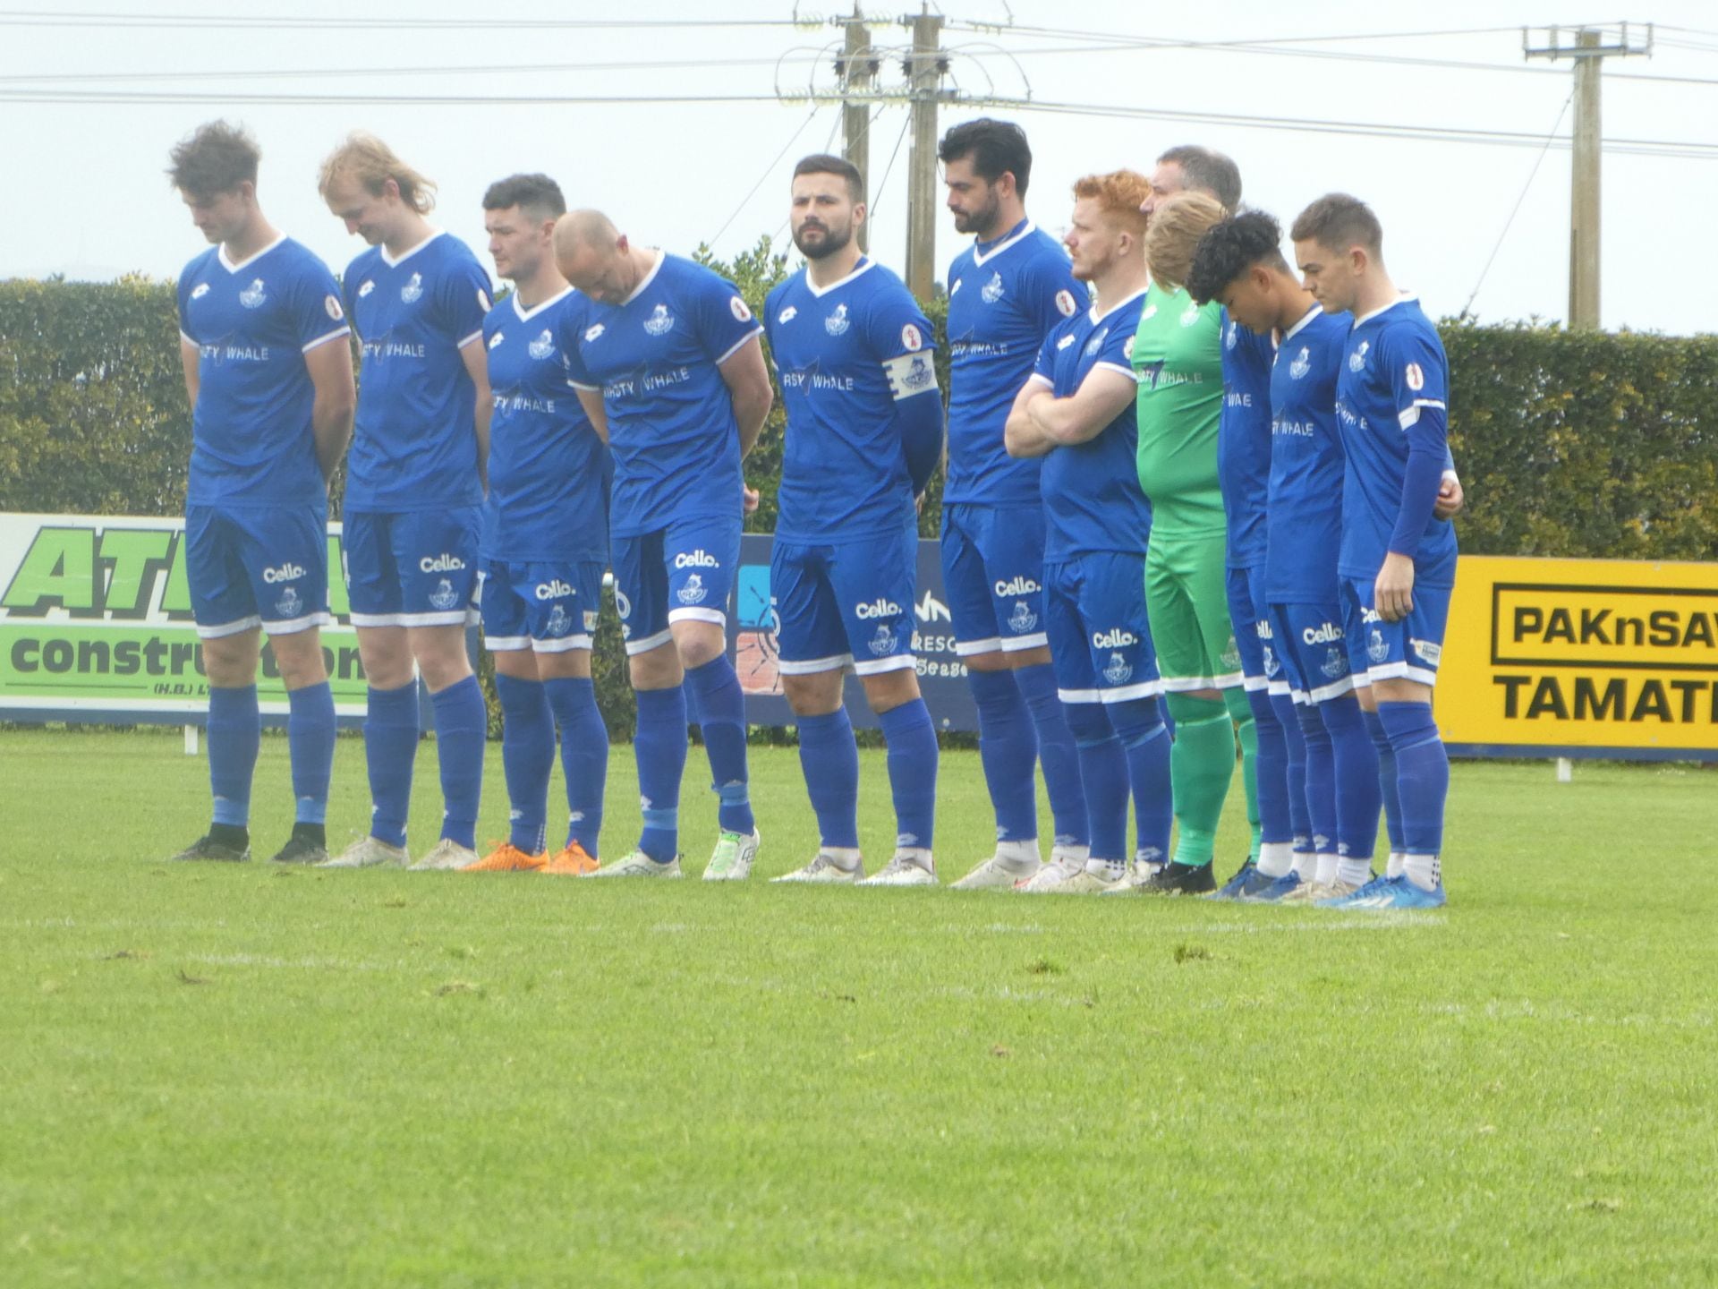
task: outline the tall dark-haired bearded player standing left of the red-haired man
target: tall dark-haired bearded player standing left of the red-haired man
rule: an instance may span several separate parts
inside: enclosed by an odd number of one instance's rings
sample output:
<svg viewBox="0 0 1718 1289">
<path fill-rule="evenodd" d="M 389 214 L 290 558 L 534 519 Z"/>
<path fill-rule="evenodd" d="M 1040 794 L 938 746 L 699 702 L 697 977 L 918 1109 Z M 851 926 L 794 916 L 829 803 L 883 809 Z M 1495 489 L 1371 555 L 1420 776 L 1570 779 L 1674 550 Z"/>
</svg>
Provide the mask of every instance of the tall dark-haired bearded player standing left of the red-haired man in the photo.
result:
<svg viewBox="0 0 1718 1289">
<path fill-rule="evenodd" d="M 996 851 L 957 890 L 1014 887 L 1039 868 L 1034 761 L 1045 767 L 1050 863 L 1086 863 L 1086 797 L 1045 634 L 1039 457 L 1010 457 L 1003 423 L 1045 335 L 1087 304 L 1067 253 L 1026 217 L 1026 132 L 981 117 L 938 146 L 955 229 L 974 235 L 948 268 L 948 478 L 943 588 L 978 708 Z"/>
</svg>

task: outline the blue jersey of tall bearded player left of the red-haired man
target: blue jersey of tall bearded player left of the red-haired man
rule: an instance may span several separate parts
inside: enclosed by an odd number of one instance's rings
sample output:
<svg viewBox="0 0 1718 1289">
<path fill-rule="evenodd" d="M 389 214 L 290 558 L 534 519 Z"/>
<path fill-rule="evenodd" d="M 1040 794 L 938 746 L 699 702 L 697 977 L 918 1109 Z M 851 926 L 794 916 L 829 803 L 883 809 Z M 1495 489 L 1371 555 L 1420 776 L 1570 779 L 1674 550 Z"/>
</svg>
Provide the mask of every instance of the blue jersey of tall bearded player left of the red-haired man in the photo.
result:
<svg viewBox="0 0 1718 1289">
<path fill-rule="evenodd" d="M 1010 457 L 1002 430 L 1045 337 L 1089 299 L 1067 251 L 1031 222 L 955 256 L 948 268 L 945 504 L 1038 504 L 1041 462 Z"/>
</svg>

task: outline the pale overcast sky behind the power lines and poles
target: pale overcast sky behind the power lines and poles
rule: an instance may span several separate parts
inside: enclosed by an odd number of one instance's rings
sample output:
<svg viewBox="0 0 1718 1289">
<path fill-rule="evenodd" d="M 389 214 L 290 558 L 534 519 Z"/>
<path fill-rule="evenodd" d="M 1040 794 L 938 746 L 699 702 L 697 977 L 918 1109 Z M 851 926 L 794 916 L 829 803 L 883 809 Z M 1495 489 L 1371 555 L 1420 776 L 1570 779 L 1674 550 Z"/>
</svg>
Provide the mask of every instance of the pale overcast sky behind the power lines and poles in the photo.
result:
<svg viewBox="0 0 1718 1289">
<path fill-rule="evenodd" d="M 909 34 L 892 15 L 911 7 L 874 0 L 873 41 L 904 46 Z M 41 3 L 31 9 L 46 12 Z M 850 3 L 799 5 L 799 17 L 813 19 L 802 26 L 785 26 L 795 7 L 783 0 L 507 7 L 507 17 L 491 24 L 474 17 L 483 9 L 448 0 L 65 0 L 53 10 L 62 24 L 41 26 L 0 0 L 7 103 L 0 277 L 177 275 L 201 239 L 161 168 L 175 139 L 218 115 L 242 120 L 261 141 L 270 218 L 337 272 L 362 246 L 320 203 L 316 167 L 352 127 L 381 134 L 440 182 L 433 218 L 472 242 L 484 263 L 479 199 L 493 179 L 515 170 L 550 172 L 574 205 L 601 206 L 634 241 L 682 253 L 704 241 L 732 254 L 783 229 L 794 158 L 832 141 L 840 146 L 837 108 L 813 112 L 806 101 L 771 96 L 833 84 L 830 55 L 840 31 L 816 21 L 850 12 Z M 953 58 L 950 84 L 969 96 L 1536 139 L 1551 134 L 1572 74 L 1569 62 L 1524 62 L 1519 27 L 1601 17 L 1539 0 L 1436 7 L 941 0 L 938 9 L 950 21 L 943 38 Z M 521 26 L 534 14 L 560 26 Z M 232 17 L 251 26 L 222 24 Z M 1012 31 L 971 29 L 1010 17 Z M 1718 5 L 1653 0 L 1639 14 L 1603 17 L 1660 24 L 1651 58 L 1605 64 L 1603 124 L 1615 146 L 1605 155 L 1605 325 L 1718 330 L 1713 294 L 1701 285 L 1711 277 L 1708 244 L 1718 210 Z M 268 19 L 278 21 L 256 26 Z M 375 21 L 368 29 L 350 26 L 366 19 Z M 739 19 L 777 26 L 701 26 Z M 347 26 L 306 26 L 316 21 Z M 665 26 L 605 26 L 653 21 Z M 1433 27 L 1455 34 L 1407 34 Z M 1634 34 L 1641 40 L 1644 29 Z M 1091 48 L 1120 40 L 1275 45 L 1270 52 Z M 899 64 L 890 62 L 883 84 L 899 82 Z M 136 100 L 113 101 L 117 95 Z M 543 101 L 691 95 L 766 101 Z M 280 96 L 320 101 L 258 101 Z M 340 98 L 368 101 L 328 101 Z M 984 112 L 1017 119 L 1031 134 L 1027 205 L 1051 232 L 1065 223 L 1069 184 L 1081 174 L 1149 170 L 1165 148 L 1203 143 L 1230 153 L 1246 199 L 1285 223 L 1331 189 L 1371 201 L 1398 285 L 1417 290 L 1433 315 L 1462 311 L 1520 201 L 1472 309 L 1483 321 L 1565 316 L 1567 143 L 1543 155 L 1529 186 L 1541 150 L 1502 139 L 1369 137 L 964 105 L 945 107 L 940 125 Z M 911 150 L 905 119 L 905 107 L 881 108 L 871 137 L 873 253 L 897 268 Z M 1570 124 L 1572 108 L 1557 131 L 1565 141 Z M 1670 156 L 1660 144 L 1692 148 Z M 962 241 L 940 211 L 938 278 Z M 785 235 L 778 244 L 792 249 Z"/>
</svg>

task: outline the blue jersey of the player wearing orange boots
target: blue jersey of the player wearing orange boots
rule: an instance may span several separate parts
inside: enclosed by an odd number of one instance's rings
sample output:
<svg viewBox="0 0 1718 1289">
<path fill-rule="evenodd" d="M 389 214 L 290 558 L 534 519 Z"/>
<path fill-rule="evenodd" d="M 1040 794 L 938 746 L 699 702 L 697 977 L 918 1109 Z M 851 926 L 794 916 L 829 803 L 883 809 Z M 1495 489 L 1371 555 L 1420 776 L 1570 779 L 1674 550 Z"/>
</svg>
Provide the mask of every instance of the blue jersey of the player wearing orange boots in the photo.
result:
<svg viewBox="0 0 1718 1289">
<path fill-rule="evenodd" d="M 567 287 L 536 308 L 519 296 L 490 309 L 490 498 L 483 555 L 497 560 L 608 559 L 608 449 L 567 378 L 560 315 Z"/>
</svg>

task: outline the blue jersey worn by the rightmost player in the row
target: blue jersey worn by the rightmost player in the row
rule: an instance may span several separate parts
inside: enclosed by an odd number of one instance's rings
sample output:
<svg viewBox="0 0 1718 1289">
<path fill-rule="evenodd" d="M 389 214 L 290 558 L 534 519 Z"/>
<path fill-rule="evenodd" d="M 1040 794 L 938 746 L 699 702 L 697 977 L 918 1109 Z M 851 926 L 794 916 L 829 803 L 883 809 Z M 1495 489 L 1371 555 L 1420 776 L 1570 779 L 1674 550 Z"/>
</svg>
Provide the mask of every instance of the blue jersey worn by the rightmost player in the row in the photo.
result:
<svg viewBox="0 0 1718 1289">
<path fill-rule="evenodd" d="M 1450 364 L 1443 340 L 1419 308 L 1404 296 L 1354 320 L 1347 354 L 1337 373 L 1337 423 L 1349 469 L 1342 490 L 1343 577 L 1376 577 L 1402 512 L 1409 433 L 1421 412 L 1448 412 Z M 1448 457 L 1445 433 L 1436 450 Z M 1414 555 L 1414 576 L 1428 586 L 1455 584 L 1455 529 L 1435 517 Z"/>
</svg>

